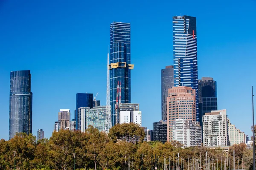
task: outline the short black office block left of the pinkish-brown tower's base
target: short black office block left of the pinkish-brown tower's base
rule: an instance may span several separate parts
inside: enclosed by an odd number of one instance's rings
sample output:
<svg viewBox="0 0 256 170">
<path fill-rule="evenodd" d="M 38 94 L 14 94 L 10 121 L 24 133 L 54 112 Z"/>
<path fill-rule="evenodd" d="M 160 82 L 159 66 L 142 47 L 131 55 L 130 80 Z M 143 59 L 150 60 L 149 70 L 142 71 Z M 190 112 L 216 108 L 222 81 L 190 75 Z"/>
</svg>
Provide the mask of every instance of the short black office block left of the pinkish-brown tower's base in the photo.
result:
<svg viewBox="0 0 256 170">
<path fill-rule="evenodd" d="M 167 122 L 160 120 L 153 123 L 153 139 L 165 143 L 167 141 Z"/>
</svg>

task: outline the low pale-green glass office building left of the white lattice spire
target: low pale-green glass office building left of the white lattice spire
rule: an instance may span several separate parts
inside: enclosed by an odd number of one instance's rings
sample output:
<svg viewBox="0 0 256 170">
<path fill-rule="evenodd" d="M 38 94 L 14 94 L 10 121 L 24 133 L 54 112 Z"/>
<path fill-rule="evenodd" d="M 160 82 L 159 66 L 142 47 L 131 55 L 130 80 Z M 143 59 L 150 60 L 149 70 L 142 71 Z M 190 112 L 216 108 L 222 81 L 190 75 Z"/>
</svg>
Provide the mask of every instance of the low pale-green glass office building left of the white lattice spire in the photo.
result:
<svg viewBox="0 0 256 170">
<path fill-rule="evenodd" d="M 96 127 L 99 131 L 102 131 L 105 125 L 106 111 L 106 106 L 87 108 L 86 128 L 88 128 L 89 125 L 92 125 L 93 127 Z"/>
</svg>

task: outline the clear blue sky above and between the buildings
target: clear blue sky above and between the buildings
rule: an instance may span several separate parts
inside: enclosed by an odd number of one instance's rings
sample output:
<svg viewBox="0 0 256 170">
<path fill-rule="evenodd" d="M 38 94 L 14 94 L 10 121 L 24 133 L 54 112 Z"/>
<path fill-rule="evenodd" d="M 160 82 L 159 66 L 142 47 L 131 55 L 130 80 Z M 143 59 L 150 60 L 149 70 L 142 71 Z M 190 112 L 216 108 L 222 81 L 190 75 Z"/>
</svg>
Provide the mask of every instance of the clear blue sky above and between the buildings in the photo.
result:
<svg viewBox="0 0 256 170">
<path fill-rule="evenodd" d="M 172 17 L 197 18 L 198 78 L 213 77 L 218 108 L 251 135 L 256 94 L 255 0 L 1 0 L 0 138 L 9 134 L 10 71 L 31 70 L 33 134 L 50 137 L 59 109 L 76 108 L 76 93 L 106 100 L 110 23 L 131 23 L 131 102 L 143 126 L 161 119 L 160 70 L 173 64 Z"/>
</svg>

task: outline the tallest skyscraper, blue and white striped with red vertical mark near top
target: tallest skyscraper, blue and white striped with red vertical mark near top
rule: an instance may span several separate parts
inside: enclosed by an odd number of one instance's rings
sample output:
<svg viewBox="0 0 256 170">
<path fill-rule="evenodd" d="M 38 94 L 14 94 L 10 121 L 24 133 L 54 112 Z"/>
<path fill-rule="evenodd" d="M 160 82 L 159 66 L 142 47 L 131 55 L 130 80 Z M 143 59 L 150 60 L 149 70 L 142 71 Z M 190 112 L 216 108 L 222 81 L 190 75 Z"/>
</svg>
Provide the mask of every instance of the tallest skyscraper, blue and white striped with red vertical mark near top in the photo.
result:
<svg viewBox="0 0 256 170">
<path fill-rule="evenodd" d="M 174 86 L 195 89 L 196 120 L 199 121 L 196 18 L 186 15 L 176 16 L 173 17 L 172 23 Z"/>
</svg>

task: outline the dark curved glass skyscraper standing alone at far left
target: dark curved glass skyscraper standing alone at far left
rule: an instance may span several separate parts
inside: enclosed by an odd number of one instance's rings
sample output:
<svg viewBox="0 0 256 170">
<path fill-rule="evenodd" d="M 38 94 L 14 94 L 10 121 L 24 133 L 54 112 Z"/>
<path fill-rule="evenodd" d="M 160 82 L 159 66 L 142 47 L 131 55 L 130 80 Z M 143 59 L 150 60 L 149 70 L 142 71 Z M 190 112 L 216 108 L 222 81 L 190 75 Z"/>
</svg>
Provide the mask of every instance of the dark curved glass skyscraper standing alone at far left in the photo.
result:
<svg viewBox="0 0 256 170">
<path fill-rule="evenodd" d="M 18 132 L 32 133 L 32 92 L 29 70 L 11 72 L 9 139 Z"/>
</svg>

